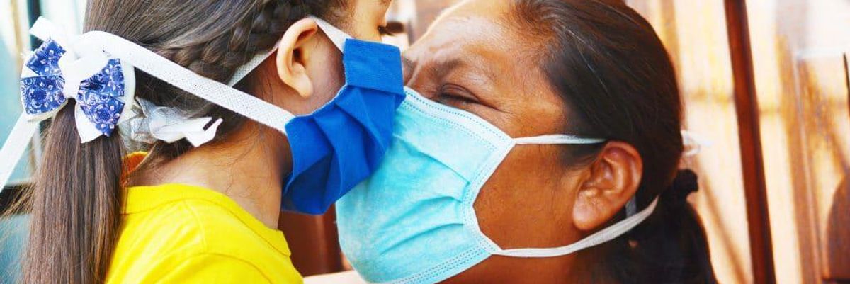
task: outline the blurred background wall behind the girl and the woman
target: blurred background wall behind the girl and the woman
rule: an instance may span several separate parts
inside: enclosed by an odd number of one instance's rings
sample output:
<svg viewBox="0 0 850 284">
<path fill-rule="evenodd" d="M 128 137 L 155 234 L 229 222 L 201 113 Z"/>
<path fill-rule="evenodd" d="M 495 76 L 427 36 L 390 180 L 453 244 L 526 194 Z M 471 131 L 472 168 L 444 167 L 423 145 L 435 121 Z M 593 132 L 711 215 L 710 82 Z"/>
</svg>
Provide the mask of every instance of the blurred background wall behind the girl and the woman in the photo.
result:
<svg viewBox="0 0 850 284">
<path fill-rule="evenodd" d="M 0 0 L 0 140 L 20 113 L 26 26 L 43 14 L 79 29 L 84 2 Z M 405 48 L 456 2 L 395 0 L 388 42 Z M 850 0 L 625 2 L 669 49 L 686 126 L 709 142 L 683 167 L 700 173 L 691 202 L 720 281 L 850 283 Z M 304 275 L 347 269 L 333 222 L 282 214 Z"/>
</svg>

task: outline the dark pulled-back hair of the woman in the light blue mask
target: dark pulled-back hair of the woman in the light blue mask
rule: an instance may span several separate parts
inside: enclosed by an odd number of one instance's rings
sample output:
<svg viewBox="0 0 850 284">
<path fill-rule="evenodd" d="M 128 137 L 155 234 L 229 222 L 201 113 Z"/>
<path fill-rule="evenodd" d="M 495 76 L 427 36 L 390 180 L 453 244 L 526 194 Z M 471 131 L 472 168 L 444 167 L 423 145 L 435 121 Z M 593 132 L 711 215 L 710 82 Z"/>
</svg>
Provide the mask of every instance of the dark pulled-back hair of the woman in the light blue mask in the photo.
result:
<svg viewBox="0 0 850 284">
<path fill-rule="evenodd" d="M 716 283 L 706 233 L 686 201 L 696 189 L 693 172 L 678 175 L 683 152 L 683 106 L 676 73 L 652 26 L 616 0 L 514 0 L 509 21 L 573 117 L 566 133 L 603 137 L 634 146 L 643 158 L 638 208 L 660 202 L 626 236 L 588 250 L 599 281 Z M 600 145 L 571 146 L 577 164 Z M 674 180 L 677 182 L 674 183 Z M 683 190 L 683 191 L 679 191 Z M 619 218 L 623 218 L 622 213 Z"/>
</svg>

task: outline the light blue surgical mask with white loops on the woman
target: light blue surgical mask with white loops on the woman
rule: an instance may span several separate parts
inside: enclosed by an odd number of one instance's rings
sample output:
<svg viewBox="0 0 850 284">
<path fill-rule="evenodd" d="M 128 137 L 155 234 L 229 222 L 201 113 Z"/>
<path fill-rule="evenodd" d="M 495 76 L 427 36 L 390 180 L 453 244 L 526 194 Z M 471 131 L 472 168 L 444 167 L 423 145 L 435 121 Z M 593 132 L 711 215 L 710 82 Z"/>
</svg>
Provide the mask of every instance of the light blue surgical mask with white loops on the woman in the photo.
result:
<svg viewBox="0 0 850 284">
<path fill-rule="evenodd" d="M 473 204 L 508 152 L 518 145 L 605 140 L 560 134 L 514 139 L 479 116 L 405 91 L 384 161 L 337 202 L 343 253 L 365 281 L 436 283 L 492 255 L 563 256 L 621 236 L 655 209 L 657 200 L 569 246 L 502 249 L 479 228 Z"/>
</svg>

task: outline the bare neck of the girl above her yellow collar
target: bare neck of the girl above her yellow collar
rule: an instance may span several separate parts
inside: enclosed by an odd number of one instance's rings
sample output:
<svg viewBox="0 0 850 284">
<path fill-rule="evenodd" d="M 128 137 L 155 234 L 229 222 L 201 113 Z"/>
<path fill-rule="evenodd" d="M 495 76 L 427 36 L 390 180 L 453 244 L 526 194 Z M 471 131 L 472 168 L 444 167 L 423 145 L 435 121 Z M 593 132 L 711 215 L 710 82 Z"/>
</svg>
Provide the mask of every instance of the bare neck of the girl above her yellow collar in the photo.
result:
<svg viewBox="0 0 850 284">
<path fill-rule="evenodd" d="M 260 133 L 247 122 L 226 141 L 204 145 L 134 174 L 133 185 L 184 184 L 216 190 L 246 212 L 277 228 L 281 187 L 292 171 L 292 154 L 282 135 Z M 265 134 L 265 135 L 263 135 Z"/>
</svg>

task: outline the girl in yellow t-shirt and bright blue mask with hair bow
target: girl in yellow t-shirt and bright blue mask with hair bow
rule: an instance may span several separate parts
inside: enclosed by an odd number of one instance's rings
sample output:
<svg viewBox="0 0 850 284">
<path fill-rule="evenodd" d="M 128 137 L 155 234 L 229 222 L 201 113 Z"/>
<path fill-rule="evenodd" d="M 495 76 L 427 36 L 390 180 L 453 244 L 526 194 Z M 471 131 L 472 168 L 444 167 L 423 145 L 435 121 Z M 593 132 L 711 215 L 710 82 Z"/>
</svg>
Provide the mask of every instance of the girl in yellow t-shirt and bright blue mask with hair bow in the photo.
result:
<svg viewBox="0 0 850 284">
<path fill-rule="evenodd" d="M 281 207 L 320 213 L 365 178 L 392 130 L 359 115 L 404 95 L 398 49 L 368 42 L 387 6 L 96 0 L 81 37 L 40 20 L 20 129 L 54 119 L 23 282 L 300 283 Z"/>
</svg>

